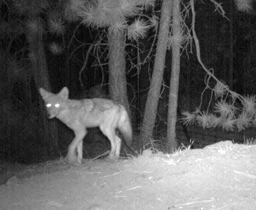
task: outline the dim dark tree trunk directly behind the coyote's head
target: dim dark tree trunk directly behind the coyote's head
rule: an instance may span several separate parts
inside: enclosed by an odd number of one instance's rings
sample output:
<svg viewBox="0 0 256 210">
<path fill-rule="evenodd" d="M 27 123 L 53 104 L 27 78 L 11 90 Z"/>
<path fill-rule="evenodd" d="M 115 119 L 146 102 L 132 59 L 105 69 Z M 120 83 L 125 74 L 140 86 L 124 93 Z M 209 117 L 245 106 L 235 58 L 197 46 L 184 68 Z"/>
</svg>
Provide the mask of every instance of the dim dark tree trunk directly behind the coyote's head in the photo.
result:
<svg viewBox="0 0 256 210">
<path fill-rule="evenodd" d="M 27 30 L 27 40 L 29 43 L 29 58 L 33 67 L 33 78 L 35 80 L 35 86 L 37 90 L 40 87 L 46 90 L 51 90 L 49 75 L 47 72 L 47 62 L 45 57 L 45 49 L 43 45 L 43 25 L 39 17 L 31 17 L 28 20 L 28 25 L 32 26 Z M 52 156 L 58 154 L 58 143 L 57 143 L 57 123 L 55 120 L 47 120 L 45 113 L 45 105 L 41 97 L 39 96 L 39 128 L 42 128 L 43 134 L 39 130 L 39 139 L 41 142 L 45 142 L 49 145 L 49 148 L 45 151 L 45 155 Z"/>
</svg>

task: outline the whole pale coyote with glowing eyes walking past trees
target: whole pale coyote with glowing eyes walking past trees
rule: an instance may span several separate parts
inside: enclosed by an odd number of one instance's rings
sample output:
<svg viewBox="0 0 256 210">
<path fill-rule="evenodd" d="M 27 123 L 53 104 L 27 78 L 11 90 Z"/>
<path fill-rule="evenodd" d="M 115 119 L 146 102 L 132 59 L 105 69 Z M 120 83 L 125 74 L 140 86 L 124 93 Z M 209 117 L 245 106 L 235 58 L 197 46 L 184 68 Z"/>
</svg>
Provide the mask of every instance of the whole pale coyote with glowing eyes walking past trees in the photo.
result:
<svg viewBox="0 0 256 210">
<path fill-rule="evenodd" d="M 131 146 L 133 140 L 131 122 L 123 106 L 104 98 L 83 100 L 69 99 L 67 87 L 53 94 L 39 88 L 45 101 L 49 118 L 58 118 L 75 133 L 75 138 L 69 144 L 67 161 L 80 165 L 83 159 L 83 138 L 87 128 L 99 127 L 111 143 L 109 158 L 117 158 L 120 154 L 121 139 L 116 135 L 116 129 L 121 132 L 125 143 Z"/>
</svg>

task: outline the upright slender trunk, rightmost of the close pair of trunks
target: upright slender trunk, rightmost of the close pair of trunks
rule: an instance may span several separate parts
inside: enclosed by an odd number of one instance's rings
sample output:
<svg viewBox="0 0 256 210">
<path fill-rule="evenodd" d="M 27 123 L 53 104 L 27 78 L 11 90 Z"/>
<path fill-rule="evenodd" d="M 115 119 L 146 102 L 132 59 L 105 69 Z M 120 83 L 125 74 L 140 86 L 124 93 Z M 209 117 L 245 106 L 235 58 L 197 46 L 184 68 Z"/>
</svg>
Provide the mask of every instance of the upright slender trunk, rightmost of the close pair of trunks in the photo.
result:
<svg viewBox="0 0 256 210">
<path fill-rule="evenodd" d="M 172 41 L 172 64 L 169 90 L 169 108 L 167 116 L 167 151 L 174 152 L 176 142 L 177 106 L 179 94 L 180 50 L 181 50 L 181 0 L 173 0 L 173 41 Z"/>
</svg>

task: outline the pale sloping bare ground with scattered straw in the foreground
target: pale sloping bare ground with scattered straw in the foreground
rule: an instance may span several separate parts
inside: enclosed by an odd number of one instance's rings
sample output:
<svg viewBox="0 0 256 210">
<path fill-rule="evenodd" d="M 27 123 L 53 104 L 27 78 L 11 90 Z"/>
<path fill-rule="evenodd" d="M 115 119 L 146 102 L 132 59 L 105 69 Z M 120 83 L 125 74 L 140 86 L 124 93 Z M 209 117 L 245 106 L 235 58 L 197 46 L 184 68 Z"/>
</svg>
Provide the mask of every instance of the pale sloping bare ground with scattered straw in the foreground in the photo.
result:
<svg viewBox="0 0 256 210">
<path fill-rule="evenodd" d="M 76 167 L 2 163 L 0 209 L 256 209 L 256 145 L 223 140 Z"/>
</svg>

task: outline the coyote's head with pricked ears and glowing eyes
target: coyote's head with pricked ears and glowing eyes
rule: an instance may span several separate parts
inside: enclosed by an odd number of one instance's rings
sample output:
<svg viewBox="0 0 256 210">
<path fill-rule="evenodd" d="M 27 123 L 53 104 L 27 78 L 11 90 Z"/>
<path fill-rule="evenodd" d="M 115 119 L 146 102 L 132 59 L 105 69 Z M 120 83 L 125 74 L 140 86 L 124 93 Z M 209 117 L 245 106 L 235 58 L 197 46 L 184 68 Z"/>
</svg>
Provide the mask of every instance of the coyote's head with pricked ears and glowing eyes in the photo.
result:
<svg viewBox="0 0 256 210">
<path fill-rule="evenodd" d="M 55 118 L 58 116 L 69 98 L 69 90 L 64 87 L 59 93 L 53 94 L 47 90 L 44 90 L 43 88 L 39 88 L 39 92 L 45 101 L 48 118 Z"/>
</svg>

